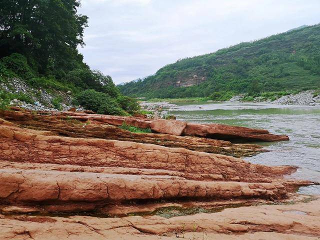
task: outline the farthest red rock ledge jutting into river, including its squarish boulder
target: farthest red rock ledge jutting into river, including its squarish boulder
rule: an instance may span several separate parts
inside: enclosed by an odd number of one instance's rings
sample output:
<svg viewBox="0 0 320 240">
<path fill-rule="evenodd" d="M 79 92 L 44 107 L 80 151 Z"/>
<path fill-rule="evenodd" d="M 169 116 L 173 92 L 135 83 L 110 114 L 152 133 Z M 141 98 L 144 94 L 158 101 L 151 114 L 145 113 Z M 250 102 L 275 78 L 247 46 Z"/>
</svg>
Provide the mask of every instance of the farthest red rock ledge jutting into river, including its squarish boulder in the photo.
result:
<svg viewBox="0 0 320 240">
<path fill-rule="evenodd" d="M 47 112 L 39 112 L 48 114 Z M 155 120 L 132 116 L 113 116 L 101 114 L 87 114 L 78 112 L 51 112 L 50 114 L 64 118 L 72 118 L 80 121 L 97 121 L 111 125 L 122 125 L 123 122 L 140 128 L 154 128 L 159 133 L 173 133 L 174 135 L 193 135 L 223 140 L 246 140 L 246 141 L 279 141 L 288 140 L 285 135 L 271 134 L 264 129 L 230 126 L 224 124 L 198 124 L 186 123 L 175 120 Z M 23 112 L 21 113 L 21 116 Z M 185 125 L 184 129 L 183 126 Z M 178 127 L 176 127 L 178 126 Z M 176 128 L 176 129 L 175 129 Z"/>
</svg>

